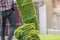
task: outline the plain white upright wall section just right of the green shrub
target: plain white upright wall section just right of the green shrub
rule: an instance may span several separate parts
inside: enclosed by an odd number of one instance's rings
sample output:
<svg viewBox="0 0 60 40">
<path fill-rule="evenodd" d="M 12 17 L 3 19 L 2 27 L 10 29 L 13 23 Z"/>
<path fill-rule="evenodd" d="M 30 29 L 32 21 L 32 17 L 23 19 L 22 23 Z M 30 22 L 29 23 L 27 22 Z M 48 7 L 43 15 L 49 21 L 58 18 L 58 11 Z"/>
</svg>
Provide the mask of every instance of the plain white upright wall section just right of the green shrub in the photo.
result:
<svg viewBox="0 0 60 40">
<path fill-rule="evenodd" d="M 39 7 L 40 34 L 47 34 L 46 5 Z"/>
</svg>

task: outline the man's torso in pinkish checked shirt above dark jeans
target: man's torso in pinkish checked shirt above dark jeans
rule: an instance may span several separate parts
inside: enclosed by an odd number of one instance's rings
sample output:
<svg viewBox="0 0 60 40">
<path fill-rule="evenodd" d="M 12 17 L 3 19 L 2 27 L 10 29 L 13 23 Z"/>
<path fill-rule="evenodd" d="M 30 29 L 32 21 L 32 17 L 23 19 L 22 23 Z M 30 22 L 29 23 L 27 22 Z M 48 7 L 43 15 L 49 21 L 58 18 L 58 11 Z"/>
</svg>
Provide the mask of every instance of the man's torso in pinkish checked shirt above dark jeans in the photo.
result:
<svg viewBox="0 0 60 40">
<path fill-rule="evenodd" d="M 13 4 L 13 0 L 0 0 L 0 11 L 11 9 L 12 4 Z"/>
</svg>

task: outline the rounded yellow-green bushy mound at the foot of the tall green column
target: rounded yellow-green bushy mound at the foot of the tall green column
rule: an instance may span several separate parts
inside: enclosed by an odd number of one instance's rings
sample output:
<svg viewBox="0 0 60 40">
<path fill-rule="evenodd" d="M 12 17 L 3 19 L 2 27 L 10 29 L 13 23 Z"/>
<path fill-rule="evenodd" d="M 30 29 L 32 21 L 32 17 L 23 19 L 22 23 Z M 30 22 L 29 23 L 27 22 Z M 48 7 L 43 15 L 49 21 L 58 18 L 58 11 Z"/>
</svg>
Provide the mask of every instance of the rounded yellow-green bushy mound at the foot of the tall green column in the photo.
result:
<svg viewBox="0 0 60 40">
<path fill-rule="evenodd" d="M 18 40 L 40 40 L 39 31 L 35 30 L 35 25 L 31 24 L 24 24 L 17 28 L 14 32 L 14 36 Z"/>
</svg>

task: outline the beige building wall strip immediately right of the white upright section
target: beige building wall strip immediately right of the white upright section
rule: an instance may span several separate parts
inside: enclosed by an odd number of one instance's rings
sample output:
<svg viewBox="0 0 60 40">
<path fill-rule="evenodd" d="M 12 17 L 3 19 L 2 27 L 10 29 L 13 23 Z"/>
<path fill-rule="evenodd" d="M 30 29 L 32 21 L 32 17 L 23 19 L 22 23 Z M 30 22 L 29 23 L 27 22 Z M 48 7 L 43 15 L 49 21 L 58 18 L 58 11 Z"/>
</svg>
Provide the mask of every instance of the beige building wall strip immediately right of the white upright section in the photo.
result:
<svg viewBox="0 0 60 40">
<path fill-rule="evenodd" d="M 47 12 L 47 27 L 51 28 L 51 15 L 53 13 L 53 6 L 52 6 L 52 0 L 44 0 L 44 4 L 46 4 L 46 12 Z"/>
</svg>

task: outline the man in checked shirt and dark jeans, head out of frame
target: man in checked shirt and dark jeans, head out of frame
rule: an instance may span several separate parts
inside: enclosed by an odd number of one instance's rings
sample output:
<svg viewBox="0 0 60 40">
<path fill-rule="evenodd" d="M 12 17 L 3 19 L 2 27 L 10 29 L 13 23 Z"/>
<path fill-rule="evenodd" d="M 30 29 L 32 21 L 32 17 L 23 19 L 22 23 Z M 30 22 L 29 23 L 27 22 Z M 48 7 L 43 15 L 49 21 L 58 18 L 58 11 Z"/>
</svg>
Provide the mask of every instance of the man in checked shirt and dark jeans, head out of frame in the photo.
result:
<svg viewBox="0 0 60 40">
<path fill-rule="evenodd" d="M 14 17 L 14 6 L 13 0 L 0 0 L 0 11 L 2 14 L 2 31 L 1 31 L 1 40 L 5 40 L 5 26 L 6 19 L 8 18 L 9 23 L 11 25 L 9 29 L 8 39 L 11 40 L 13 36 L 14 29 L 16 27 L 15 17 Z"/>
</svg>

